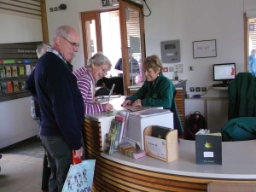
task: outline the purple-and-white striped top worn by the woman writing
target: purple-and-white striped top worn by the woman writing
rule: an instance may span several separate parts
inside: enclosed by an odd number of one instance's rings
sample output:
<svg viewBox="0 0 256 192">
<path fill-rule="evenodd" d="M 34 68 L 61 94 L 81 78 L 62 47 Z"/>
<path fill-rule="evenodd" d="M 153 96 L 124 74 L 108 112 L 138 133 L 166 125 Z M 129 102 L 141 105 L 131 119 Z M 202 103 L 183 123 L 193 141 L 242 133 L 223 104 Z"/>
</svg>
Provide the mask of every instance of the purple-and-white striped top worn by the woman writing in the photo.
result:
<svg viewBox="0 0 256 192">
<path fill-rule="evenodd" d="M 103 112 L 102 104 L 92 102 L 96 80 L 92 77 L 90 70 L 87 67 L 81 67 L 73 71 L 73 74 L 77 78 L 77 84 L 84 99 L 84 113 Z"/>
</svg>

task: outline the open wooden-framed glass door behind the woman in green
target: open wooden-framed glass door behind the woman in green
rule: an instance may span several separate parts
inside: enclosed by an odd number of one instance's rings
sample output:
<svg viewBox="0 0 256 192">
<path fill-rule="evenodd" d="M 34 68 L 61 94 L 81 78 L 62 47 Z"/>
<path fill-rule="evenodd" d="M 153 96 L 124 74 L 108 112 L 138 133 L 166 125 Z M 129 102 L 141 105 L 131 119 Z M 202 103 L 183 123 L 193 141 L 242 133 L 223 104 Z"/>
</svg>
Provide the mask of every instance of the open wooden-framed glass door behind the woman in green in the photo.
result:
<svg viewBox="0 0 256 192">
<path fill-rule="evenodd" d="M 122 69 L 125 95 L 128 86 L 143 82 L 142 62 L 145 58 L 143 5 L 119 0 Z"/>
</svg>

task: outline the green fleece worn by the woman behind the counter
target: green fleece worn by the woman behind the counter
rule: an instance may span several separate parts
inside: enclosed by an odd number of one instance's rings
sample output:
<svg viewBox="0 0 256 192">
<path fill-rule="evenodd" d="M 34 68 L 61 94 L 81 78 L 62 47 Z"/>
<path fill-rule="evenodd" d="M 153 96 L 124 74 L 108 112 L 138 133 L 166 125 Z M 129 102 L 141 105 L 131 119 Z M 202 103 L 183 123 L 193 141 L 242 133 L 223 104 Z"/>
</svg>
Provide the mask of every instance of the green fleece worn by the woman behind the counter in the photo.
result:
<svg viewBox="0 0 256 192">
<path fill-rule="evenodd" d="M 141 99 L 142 106 L 170 109 L 175 90 L 176 88 L 172 81 L 160 73 L 153 87 L 151 81 L 145 81 L 143 86 L 135 94 L 128 96 L 126 100 L 134 102 L 137 99 Z"/>
</svg>

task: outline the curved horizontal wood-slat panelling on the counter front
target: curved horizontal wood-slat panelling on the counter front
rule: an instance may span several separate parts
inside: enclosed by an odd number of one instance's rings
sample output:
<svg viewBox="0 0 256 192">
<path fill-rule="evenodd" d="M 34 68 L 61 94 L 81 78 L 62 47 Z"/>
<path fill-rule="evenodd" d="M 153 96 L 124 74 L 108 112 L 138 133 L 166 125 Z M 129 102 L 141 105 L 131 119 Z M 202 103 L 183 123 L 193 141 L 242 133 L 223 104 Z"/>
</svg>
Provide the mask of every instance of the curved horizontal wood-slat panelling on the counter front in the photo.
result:
<svg viewBox="0 0 256 192">
<path fill-rule="evenodd" d="M 88 132 L 87 132 L 88 131 Z M 96 159 L 93 191 L 207 191 L 207 183 L 256 183 L 255 180 L 185 177 L 125 166 L 101 156 L 100 123 L 85 119 L 83 135 L 86 159 Z M 100 145 L 98 145 L 100 143 Z"/>
</svg>

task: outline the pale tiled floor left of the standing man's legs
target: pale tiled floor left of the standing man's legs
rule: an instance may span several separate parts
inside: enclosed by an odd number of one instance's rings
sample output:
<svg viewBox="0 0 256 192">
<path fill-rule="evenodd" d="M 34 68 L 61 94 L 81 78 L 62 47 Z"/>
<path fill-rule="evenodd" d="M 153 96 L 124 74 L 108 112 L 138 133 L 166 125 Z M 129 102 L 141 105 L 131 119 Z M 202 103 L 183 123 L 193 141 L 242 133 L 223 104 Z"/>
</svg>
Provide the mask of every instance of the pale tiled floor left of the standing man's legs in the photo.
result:
<svg viewBox="0 0 256 192">
<path fill-rule="evenodd" d="M 40 192 L 43 158 L 2 154 L 0 192 Z"/>
</svg>

